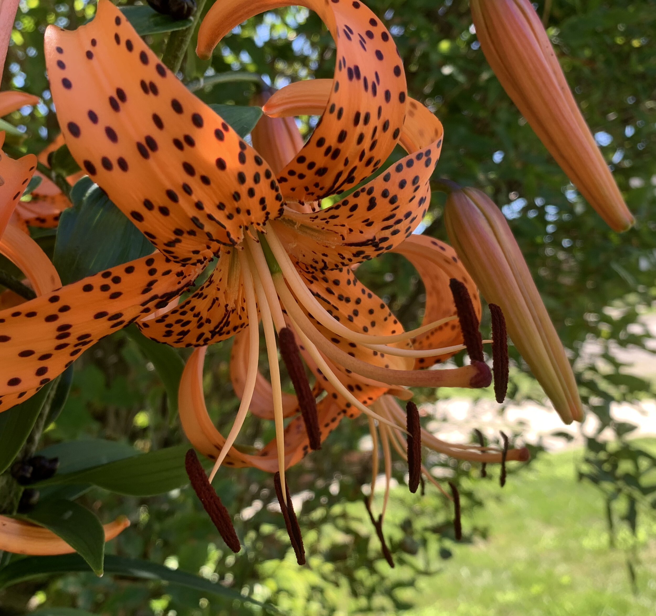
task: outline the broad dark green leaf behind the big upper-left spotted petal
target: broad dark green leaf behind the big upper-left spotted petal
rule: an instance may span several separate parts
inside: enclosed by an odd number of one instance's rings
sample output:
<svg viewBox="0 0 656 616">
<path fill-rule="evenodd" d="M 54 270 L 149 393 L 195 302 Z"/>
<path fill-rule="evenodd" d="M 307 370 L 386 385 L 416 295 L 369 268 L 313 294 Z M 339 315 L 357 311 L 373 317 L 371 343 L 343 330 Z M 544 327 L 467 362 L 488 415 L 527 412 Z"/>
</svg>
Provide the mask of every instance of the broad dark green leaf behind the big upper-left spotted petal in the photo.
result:
<svg viewBox="0 0 656 616">
<path fill-rule="evenodd" d="M 73 186 L 71 201 L 73 207 L 62 212 L 52 258 L 65 285 L 154 251 L 88 177 Z"/>
</svg>

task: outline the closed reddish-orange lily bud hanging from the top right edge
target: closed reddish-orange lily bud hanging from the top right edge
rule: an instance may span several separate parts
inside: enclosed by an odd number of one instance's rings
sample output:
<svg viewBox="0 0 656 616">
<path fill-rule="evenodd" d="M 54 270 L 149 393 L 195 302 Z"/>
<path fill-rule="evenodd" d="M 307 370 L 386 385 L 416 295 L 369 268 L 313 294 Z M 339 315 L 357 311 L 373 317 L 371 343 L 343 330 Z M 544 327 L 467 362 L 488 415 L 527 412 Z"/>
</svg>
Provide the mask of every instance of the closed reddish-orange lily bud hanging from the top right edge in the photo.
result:
<svg viewBox="0 0 656 616">
<path fill-rule="evenodd" d="M 471 0 L 487 62 L 571 182 L 615 231 L 634 222 L 529 0 Z"/>
</svg>

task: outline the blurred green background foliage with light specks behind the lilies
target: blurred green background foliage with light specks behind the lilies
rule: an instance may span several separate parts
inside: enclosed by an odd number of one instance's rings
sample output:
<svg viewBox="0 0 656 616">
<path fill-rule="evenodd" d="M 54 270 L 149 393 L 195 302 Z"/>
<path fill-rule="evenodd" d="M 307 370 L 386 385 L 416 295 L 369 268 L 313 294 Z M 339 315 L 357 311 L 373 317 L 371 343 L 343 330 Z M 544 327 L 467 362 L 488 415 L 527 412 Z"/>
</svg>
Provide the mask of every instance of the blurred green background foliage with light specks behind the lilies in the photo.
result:
<svg viewBox="0 0 656 616">
<path fill-rule="evenodd" d="M 445 127 L 436 175 L 483 188 L 510 221 L 569 349 L 584 405 L 600 419 L 598 434 L 588 439 L 581 478 L 602 488 L 611 529 L 626 525 L 635 535 L 638 512 L 656 508 L 649 474 L 655 459 L 642 445 L 627 440 L 630 426 L 613 420 L 611 403 L 651 396 L 653 385 L 626 374 L 613 349 L 645 347 L 648 332 L 635 324 L 650 310 L 655 293 L 656 2 L 546 3 L 548 33 L 567 80 L 636 215 L 636 226 L 621 236 L 583 202 L 504 94 L 480 51 L 466 1 L 368 4 L 395 38 L 410 94 L 434 111 Z M 541 14 L 544 5 L 535 3 Z M 21 1 L 1 89 L 38 94 L 41 101 L 5 118 L 16 127 L 7 135 L 10 154 L 38 153 L 59 132 L 45 75 L 46 26 L 77 28 L 94 11 L 94 3 L 87 0 Z M 145 39 L 161 54 L 167 33 L 147 34 Z M 194 47 L 192 37 L 180 77 L 194 82 L 196 94 L 213 104 L 247 105 L 259 87 L 257 79 L 221 81 L 213 87 L 215 75 L 255 73 L 264 83 L 282 87 L 297 79 L 331 77 L 335 67 L 329 33 L 303 7 L 277 9 L 249 20 L 222 41 L 211 60 L 197 58 Z M 207 85 L 199 87 L 201 78 Z M 311 131 L 316 120 L 300 118 L 302 131 Z M 424 233 L 446 239 L 443 196 L 434 191 L 423 225 Z M 52 256 L 54 233 L 39 230 L 33 236 Z M 0 268 L 20 275 L 4 258 Z M 68 275 L 60 273 L 62 278 Z M 358 276 L 389 302 L 404 325 L 420 321 L 424 289 L 402 258 L 386 255 L 367 262 Z M 230 384 L 230 348 L 230 341 L 214 345 L 205 361 L 207 406 L 224 432 L 238 403 Z M 186 353 L 180 352 L 180 357 L 186 358 Z M 512 357 L 516 369 L 525 371 L 521 358 Z M 260 359 L 266 365 L 264 349 Z M 125 443 L 138 453 L 182 443 L 178 419 L 154 364 L 125 332 L 93 346 L 75 363 L 70 397 L 47 426 L 41 446 L 102 438 Z M 523 389 L 528 390 L 535 392 Z M 509 397 L 518 391 L 517 384 L 511 384 Z M 439 395 L 434 390 L 417 392 L 421 401 L 434 401 Z M 394 491 L 385 532 L 397 567 L 388 567 L 361 504 L 361 485 L 371 478 L 370 455 L 358 447 L 366 426 L 362 419 L 342 422 L 321 451 L 289 474 L 294 493 L 304 499 L 300 521 L 310 563 L 306 569 L 295 565 L 281 516 L 268 507 L 273 498 L 270 476 L 256 470 L 230 470 L 215 483 L 236 515 L 237 533 L 245 546 L 237 556 L 218 540 L 188 488 L 155 497 L 125 497 L 83 485 L 78 502 L 102 522 L 119 514 L 129 516 L 132 526 L 108 544 L 109 553 L 199 574 L 243 595 L 270 600 L 287 613 L 396 613 L 413 605 L 412 590 L 422 579 L 437 579 L 439 584 L 440 577 L 433 577 L 436 571 L 455 562 L 451 512 L 432 487 L 424 497 Z M 605 428 L 615 433 L 611 443 L 596 438 Z M 271 422 L 251 417 L 239 442 L 263 443 L 272 436 Z M 440 457 L 430 463 L 456 473 L 466 514 L 482 506 L 474 482 L 478 469 L 466 463 L 450 466 Z M 405 464 L 394 463 L 394 478 L 401 485 L 405 470 Z M 465 532 L 466 541 L 487 535 L 483 526 L 466 525 Z M 628 570 L 640 590 L 638 551 L 635 542 L 628 544 Z M 71 573 L 0 590 L 0 614 L 24 613 L 28 600 L 32 607 L 79 607 L 117 616 L 261 613 L 257 607 L 155 580 L 136 583 L 121 576 L 98 579 L 92 573 Z"/>
</svg>

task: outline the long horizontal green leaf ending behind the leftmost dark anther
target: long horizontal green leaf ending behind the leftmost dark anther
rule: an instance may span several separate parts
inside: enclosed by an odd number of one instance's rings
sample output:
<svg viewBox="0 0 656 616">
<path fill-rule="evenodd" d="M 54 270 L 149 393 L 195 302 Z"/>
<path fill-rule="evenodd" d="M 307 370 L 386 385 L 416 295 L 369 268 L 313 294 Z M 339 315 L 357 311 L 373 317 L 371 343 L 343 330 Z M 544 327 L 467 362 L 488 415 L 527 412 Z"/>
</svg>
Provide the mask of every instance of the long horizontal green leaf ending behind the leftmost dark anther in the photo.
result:
<svg viewBox="0 0 656 616">
<path fill-rule="evenodd" d="M 62 443 L 64 444 L 64 443 Z M 33 487 L 92 483 L 110 492 L 129 496 L 154 496 L 189 483 L 184 470 L 184 455 L 189 445 L 176 445 L 150 451 L 87 470 L 58 473 Z M 211 461 L 204 461 L 209 468 Z"/>
</svg>

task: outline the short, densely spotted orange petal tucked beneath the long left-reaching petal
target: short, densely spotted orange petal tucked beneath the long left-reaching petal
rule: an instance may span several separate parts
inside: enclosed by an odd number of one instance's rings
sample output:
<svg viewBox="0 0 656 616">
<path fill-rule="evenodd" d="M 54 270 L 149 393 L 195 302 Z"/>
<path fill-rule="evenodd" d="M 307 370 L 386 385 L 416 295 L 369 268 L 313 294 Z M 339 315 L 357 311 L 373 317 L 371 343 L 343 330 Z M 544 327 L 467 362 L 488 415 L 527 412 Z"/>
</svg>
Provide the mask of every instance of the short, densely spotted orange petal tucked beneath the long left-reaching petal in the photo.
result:
<svg viewBox="0 0 656 616">
<path fill-rule="evenodd" d="M 207 281 L 182 304 L 137 323 L 142 333 L 171 346 L 206 346 L 248 325 L 246 298 L 235 249 L 223 249 Z"/>
</svg>

